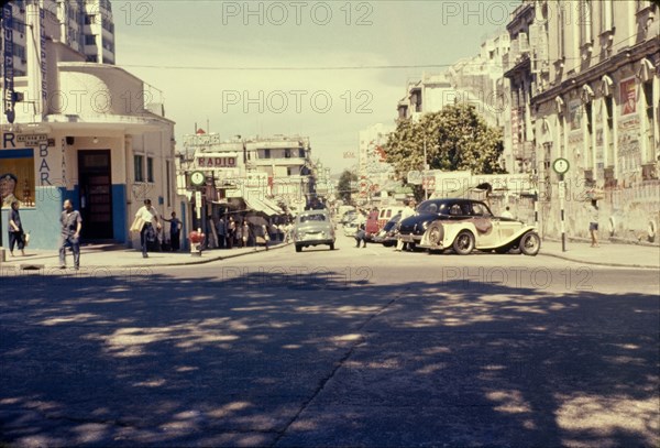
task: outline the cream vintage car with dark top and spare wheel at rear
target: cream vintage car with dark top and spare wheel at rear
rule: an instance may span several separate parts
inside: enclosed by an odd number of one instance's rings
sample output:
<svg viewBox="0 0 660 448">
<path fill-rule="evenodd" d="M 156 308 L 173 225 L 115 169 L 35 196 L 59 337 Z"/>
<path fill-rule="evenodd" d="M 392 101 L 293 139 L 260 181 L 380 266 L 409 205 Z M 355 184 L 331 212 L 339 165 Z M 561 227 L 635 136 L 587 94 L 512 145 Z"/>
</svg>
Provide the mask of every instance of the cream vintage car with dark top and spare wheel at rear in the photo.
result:
<svg viewBox="0 0 660 448">
<path fill-rule="evenodd" d="M 474 250 L 498 253 L 519 250 L 526 255 L 539 253 L 541 239 L 534 226 L 496 217 L 486 204 L 477 200 L 444 199 L 436 205 L 440 210 L 438 218 L 430 223 L 422 218 L 416 225 L 425 228 L 419 248 L 431 251 L 453 249 L 460 255 Z"/>
</svg>

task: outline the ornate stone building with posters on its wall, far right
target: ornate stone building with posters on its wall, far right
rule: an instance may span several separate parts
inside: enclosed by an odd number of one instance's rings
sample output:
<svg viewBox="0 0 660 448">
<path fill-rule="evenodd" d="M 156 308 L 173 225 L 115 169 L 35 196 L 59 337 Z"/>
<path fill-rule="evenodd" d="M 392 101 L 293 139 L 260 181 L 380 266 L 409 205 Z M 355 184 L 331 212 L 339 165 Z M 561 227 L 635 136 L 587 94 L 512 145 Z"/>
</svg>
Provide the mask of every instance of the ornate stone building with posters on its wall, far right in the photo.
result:
<svg viewBox="0 0 660 448">
<path fill-rule="evenodd" d="M 602 198 L 610 236 L 654 234 L 660 210 L 660 21 L 651 1 L 537 0 L 537 39 L 548 41 L 549 66 L 528 75 L 534 151 L 548 216 L 559 216 L 551 163 L 570 163 L 569 229 L 585 234 L 584 199 Z M 516 29 L 509 28 L 512 39 Z M 547 33 L 547 34 L 546 34 Z M 530 34 L 531 35 L 531 31 Z M 520 33 L 518 33 L 520 40 Z M 542 58 L 546 63 L 546 58 Z M 534 65 L 531 66 L 534 68 Z M 512 83 L 525 75 L 512 77 Z M 543 189 L 543 188 L 541 188 Z M 574 200 L 570 200 L 574 199 Z M 547 232 L 559 220 L 547 219 Z"/>
</svg>

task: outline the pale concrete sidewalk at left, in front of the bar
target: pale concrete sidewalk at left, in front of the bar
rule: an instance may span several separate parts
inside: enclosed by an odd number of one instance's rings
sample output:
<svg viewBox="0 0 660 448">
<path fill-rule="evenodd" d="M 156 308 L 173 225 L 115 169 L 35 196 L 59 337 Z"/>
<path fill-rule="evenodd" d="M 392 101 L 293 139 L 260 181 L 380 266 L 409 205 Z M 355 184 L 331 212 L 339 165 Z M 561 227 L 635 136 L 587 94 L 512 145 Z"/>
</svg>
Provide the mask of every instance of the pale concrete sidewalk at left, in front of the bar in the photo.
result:
<svg viewBox="0 0 660 448">
<path fill-rule="evenodd" d="M 290 243 L 276 243 L 268 247 L 268 250 L 277 250 L 288 247 Z M 194 256 L 188 251 L 180 252 L 150 252 L 148 258 L 142 258 L 139 249 L 127 249 L 119 245 L 95 245 L 88 244 L 80 248 L 80 267 L 152 267 L 152 266 L 180 266 L 190 264 L 204 264 L 212 261 L 227 260 L 237 256 L 265 252 L 263 245 L 257 248 L 234 248 L 234 249 L 212 249 L 201 253 L 201 256 Z M 59 267 L 59 255 L 57 251 L 42 251 L 25 249 L 25 256 L 18 255 L 19 250 L 14 250 L 16 256 L 11 256 L 9 250 L 6 250 L 4 262 L 0 261 L 3 269 L 31 269 L 35 267 L 55 269 Z M 67 267 L 72 269 L 74 258 L 70 251 L 66 255 Z"/>
</svg>

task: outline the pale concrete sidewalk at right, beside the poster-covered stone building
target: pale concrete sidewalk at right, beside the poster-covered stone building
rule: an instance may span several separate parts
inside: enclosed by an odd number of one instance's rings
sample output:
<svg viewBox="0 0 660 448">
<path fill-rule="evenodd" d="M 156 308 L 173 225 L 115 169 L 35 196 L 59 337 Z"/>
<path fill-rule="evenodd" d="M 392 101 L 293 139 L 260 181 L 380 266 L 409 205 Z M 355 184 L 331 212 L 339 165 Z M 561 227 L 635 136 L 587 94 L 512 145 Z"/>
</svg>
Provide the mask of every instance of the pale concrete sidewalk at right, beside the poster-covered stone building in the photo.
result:
<svg viewBox="0 0 660 448">
<path fill-rule="evenodd" d="M 546 239 L 541 242 L 540 255 L 578 263 L 602 266 L 622 266 L 660 270 L 660 247 L 650 244 L 619 244 L 601 242 L 592 248 L 588 242 L 569 240 L 566 251 L 562 251 L 561 241 Z"/>
</svg>

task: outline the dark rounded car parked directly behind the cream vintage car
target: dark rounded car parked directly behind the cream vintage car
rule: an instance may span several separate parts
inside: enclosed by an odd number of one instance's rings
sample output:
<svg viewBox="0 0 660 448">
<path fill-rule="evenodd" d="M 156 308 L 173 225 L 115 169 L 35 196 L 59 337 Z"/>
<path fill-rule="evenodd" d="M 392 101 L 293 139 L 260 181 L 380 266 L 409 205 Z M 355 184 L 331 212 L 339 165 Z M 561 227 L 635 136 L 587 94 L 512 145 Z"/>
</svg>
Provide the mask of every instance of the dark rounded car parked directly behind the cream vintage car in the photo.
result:
<svg viewBox="0 0 660 448">
<path fill-rule="evenodd" d="M 484 203 L 472 199 L 457 198 L 425 200 L 415 209 L 415 216 L 406 218 L 400 222 L 400 239 L 404 242 L 417 245 L 431 222 L 437 220 L 462 220 L 470 218 L 473 216 L 475 207 L 485 207 L 485 209 L 488 210 L 488 207 Z"/>
</svg>

